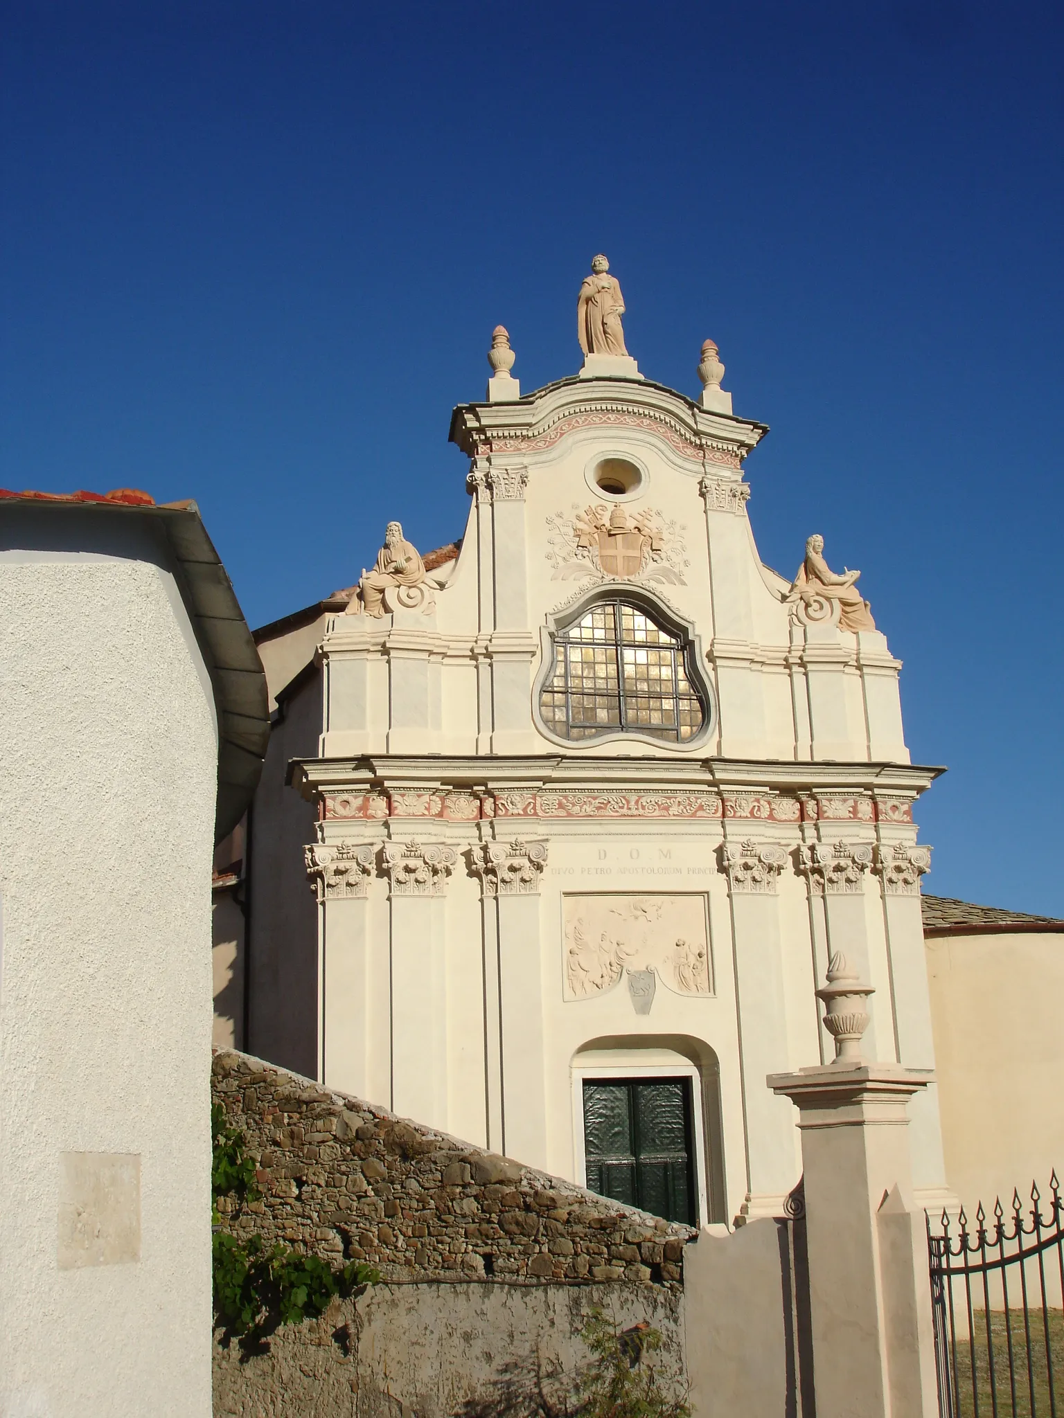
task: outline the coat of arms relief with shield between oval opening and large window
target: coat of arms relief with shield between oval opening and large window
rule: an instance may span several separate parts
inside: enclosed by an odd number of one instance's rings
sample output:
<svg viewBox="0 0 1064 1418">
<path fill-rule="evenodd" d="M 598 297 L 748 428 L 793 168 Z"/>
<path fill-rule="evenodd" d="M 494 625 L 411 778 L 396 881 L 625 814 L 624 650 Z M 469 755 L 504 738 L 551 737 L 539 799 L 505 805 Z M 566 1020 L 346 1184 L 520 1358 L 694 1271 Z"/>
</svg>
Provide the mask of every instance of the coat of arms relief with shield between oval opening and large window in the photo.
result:
<svg viewBox="0 0 1064 1418">
<path fill-rule="evenodd" d="M 682 571 L 691 563 L 684 557 L 680 529 L 675 522 L 663 522 L 653 508 L 628 512 L 599 502 L 580 512 L 573 503 L 570 518 L 558 512 L 546 525 L 553 581 L 597 576 L 687 586 Z"/>
</svg>

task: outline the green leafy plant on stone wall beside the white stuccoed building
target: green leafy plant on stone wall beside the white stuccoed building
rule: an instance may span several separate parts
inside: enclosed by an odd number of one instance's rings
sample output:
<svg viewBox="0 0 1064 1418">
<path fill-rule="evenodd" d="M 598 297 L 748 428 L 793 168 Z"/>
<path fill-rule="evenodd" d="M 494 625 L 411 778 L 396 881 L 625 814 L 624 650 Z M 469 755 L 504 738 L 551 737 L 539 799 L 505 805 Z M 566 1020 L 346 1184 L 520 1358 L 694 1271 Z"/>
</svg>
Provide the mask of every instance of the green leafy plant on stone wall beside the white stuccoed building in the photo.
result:
<svg viewBox="0 0 1064 1418">
<path fill-rule="evenodd" d="M 349 1261 L 332 1266 L 279 1241 L 267 1248 L 260 1235 L 247 1239 L 224 1228 L 218 1201 L 233 1198 L 227 1214 L 238 1217 L 261 1193 L 255 1184 L 255 1159 L 245 1151 L 244 1134 L 230 1127 L 226 1110 L 210 1110 L 211 1161 L 211 1269 L 214 1312 L 230 1334 L 262 1339 L 278 1324 L 299 1324 L 322 1314 L 338 1296 L 346 1299 L 363 1285 L 376 1285 L 380 1272 Z"/>
</svg>

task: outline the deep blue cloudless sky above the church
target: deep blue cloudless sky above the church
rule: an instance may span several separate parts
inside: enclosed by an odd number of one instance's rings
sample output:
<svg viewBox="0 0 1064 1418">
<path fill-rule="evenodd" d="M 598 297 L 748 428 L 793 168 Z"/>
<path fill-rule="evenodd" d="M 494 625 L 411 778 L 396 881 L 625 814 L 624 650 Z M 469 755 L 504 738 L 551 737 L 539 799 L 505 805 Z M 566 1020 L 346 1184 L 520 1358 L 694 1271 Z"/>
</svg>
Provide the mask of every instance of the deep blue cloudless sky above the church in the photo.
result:
<svg viewBox="0 0 1064 1418">
<path fill-rule="evenodd" d="M 0 4 L 0 485 L 194 498 L 253 624 L 458 535 L 494 325 L 706 335 L 894 652 L 941 895 L 1064 915 L 1060 7 Z M 61 614 L 61 607 L 57 607 Z"/>
</svg>

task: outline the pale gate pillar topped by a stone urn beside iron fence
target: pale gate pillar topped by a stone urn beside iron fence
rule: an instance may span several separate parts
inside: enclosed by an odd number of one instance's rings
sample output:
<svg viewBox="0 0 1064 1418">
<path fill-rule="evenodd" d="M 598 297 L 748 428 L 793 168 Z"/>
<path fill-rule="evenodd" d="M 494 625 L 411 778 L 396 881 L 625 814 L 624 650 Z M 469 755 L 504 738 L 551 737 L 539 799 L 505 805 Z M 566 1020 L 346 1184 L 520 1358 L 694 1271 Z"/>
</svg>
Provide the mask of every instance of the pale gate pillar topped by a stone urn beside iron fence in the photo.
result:
<svg viewBox="0 0 1064 1418">
<path fill-rule="evenodd" d="M 872 994 L 829 964 L 831 1064 L 772 1073 L 799 1109 L 817 1418 L 935 1418 L 935 1350 L 922 1212 L 912 1202 L 908 1100 L 931 1072 L 861 1056 Z"/>
</svg>

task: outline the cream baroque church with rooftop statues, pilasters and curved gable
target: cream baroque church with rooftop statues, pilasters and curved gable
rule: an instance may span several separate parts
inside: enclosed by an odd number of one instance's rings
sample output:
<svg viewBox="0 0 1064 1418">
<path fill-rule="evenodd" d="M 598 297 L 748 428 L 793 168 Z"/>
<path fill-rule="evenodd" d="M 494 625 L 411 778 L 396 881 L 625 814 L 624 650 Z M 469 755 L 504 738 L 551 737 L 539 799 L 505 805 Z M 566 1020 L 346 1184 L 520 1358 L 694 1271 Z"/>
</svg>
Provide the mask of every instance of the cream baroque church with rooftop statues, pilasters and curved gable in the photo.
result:
<svg viewBox="0 0 1064 1418">
<path fill-rule="evenodd" d="M 698 400 L 643 377 L 606 269 L 577 374 L 522 397 L 495 332 L 450 430 L 461 542 L 393 523 L 359 587 L 260 634 L 244 1046 L 675 1219 L 780 1215 L 800 1146 L 765 1078 L 834 1056 L 831 956 L 874 990 L 870 1056 L 933 1068 L 936 770 L 858 573 L 820 537 L 793 581 L 762 563 L 767 430 L 716 347 Z M 941 1204 L 933 1083 L 911 1130 Z"/>
</svg>

